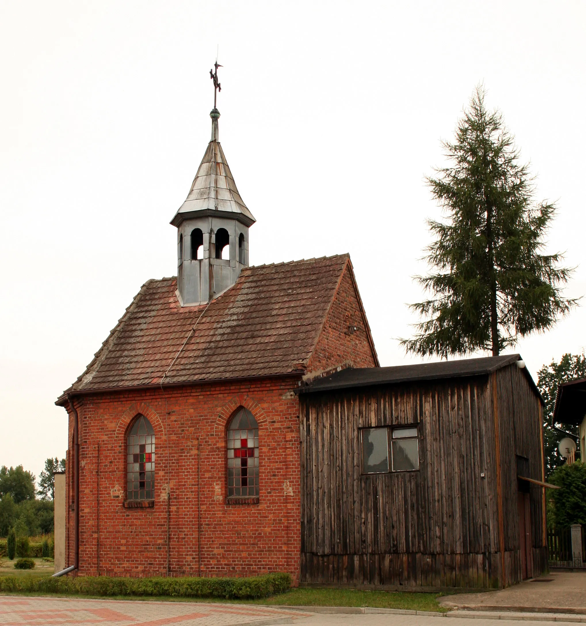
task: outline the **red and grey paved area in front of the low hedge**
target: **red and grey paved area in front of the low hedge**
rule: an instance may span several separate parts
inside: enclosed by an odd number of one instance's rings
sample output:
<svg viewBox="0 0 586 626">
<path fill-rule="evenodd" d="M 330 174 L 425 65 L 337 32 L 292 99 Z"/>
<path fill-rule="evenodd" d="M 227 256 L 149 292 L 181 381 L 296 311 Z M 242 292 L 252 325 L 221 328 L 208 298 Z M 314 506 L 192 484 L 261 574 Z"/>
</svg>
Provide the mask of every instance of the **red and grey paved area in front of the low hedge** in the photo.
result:
<svg viewBox="0 0 586 626">
<path fill-rule="evenodd" d="M 229 626 L 294 623 L 309 613 L 253 605 L 0 597 L 0 625 Z"/>
</svg>

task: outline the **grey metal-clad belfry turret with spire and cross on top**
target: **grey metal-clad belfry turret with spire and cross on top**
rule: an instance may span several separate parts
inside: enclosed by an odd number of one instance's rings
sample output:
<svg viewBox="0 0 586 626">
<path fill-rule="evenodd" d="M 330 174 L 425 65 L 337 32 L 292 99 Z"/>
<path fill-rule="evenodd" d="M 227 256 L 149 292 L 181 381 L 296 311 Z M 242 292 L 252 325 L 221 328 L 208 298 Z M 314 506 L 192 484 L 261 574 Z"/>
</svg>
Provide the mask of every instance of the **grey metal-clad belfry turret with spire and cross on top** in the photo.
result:
<svg viewBox="0 0 586 626">
<path fill-rule="evenodd" d="M 217 68 L 216 63 L 216 89 Z M 187 198 L 171 220 L 177 227 L 177 295 L 182 306 L 205 304 L 236 282 L 249 264 L 249 227 L 256 221 L 240 198 L 218 141 L 220 113 L 215 106 L 210 117 L 212 138 Z"/>
</svg>

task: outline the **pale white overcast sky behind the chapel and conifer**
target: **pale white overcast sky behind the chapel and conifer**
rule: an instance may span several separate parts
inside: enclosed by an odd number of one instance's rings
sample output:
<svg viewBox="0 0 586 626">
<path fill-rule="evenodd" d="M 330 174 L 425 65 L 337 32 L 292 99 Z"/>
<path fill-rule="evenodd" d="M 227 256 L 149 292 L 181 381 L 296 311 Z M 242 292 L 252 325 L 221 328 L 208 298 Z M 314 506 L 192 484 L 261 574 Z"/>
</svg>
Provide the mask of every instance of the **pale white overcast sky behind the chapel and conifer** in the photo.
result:
<svg viewBox="0 0 586 626">
<path fill-rule="evenodd" d="M 585 7 L 0 0 L 0 464 L 64 456 L 54 400 L 145 280 L 176 274 L 218 44 L 251 264 L 349 252 L 381 364 L 419 361 L 397 339 L 439 217 L 423 179 L 480 81 L 558 203 L 566 294 L 586 293 Z M 537 377 L 585 332 L 583 306 L 517 351 Z"/>
</svg>

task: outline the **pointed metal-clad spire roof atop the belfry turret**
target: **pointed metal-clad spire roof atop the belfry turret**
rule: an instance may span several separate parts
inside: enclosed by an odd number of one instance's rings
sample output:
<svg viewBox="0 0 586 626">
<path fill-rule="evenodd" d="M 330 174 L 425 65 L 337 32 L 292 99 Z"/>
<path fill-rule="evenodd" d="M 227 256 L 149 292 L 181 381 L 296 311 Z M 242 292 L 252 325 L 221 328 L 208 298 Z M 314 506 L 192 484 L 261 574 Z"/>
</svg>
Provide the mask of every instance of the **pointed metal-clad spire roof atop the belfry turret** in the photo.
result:
<svg viewBox="0 0 586 626">
<path fill-rule="evenodd" d="M 220 112 L 213 109 L 210 117 L 212 118 L 212 139 L 208 143 L 187 198 L 175 213 L 171 223 L 173 226 L 178 226 L 183 220 L 191 217 L 217 215 L 236 218 L 246 226 L 250 226 L 256 220 L 240 197 L 224 150 L 218 141 Z"/>
</svg>

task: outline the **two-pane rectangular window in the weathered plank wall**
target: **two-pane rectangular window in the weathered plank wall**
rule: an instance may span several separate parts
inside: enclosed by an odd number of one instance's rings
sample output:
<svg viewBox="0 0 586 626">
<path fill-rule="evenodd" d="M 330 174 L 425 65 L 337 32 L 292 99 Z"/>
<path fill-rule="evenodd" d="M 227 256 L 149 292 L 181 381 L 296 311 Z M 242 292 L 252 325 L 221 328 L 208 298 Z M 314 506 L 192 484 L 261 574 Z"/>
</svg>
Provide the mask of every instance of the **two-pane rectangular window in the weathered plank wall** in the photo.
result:
<svg viewBox="0 0 586 626">
<path fill-rule="evenodd" d="M 362 473 L 419 469 L 417 427 L 362 428 Z"/>
</svg>

